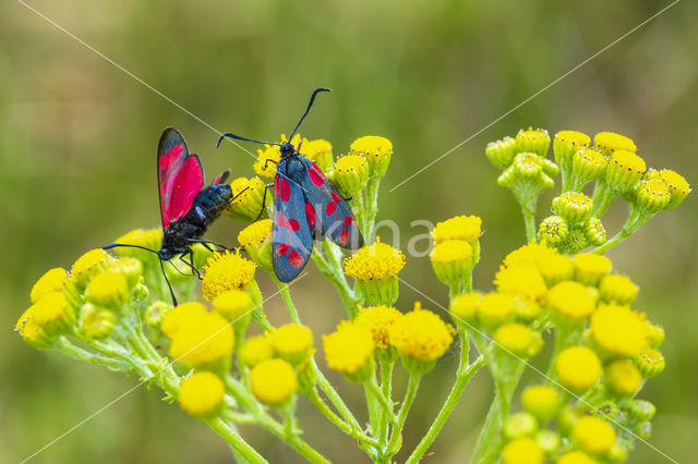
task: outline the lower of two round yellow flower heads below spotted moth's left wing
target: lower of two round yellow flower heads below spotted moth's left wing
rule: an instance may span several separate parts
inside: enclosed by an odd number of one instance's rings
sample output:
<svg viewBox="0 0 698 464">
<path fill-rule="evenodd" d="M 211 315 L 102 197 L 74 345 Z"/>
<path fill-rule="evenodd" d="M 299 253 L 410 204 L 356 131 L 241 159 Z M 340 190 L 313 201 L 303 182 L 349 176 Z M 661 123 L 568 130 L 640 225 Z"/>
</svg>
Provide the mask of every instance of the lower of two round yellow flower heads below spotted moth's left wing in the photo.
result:
<svg viewBox="0 0 698 464">
<path fill-rule="evenodd" d="M 252 393 L 265 404 L 279 406 L 290 400 L 298 389 L 293 366 L 284 359 L 266 359 L 250 370 Z"/>
</svg>

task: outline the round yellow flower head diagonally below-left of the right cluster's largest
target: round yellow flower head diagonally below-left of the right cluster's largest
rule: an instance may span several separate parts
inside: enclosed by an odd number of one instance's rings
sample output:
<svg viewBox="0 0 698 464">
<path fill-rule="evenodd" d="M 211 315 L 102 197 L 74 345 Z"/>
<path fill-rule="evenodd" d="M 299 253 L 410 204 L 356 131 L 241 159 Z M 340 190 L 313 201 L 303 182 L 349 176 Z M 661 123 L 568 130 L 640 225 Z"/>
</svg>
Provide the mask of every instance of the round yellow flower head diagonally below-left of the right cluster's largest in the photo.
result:
<svg viewBox="0 0 698 464">
<path fill-rule="evenodd" d="M 581 392 L 601 378 L 601 361 L 587 346 L 570 346 L 557 355 L 555 370 L 565 386 Z"/>
</svg>

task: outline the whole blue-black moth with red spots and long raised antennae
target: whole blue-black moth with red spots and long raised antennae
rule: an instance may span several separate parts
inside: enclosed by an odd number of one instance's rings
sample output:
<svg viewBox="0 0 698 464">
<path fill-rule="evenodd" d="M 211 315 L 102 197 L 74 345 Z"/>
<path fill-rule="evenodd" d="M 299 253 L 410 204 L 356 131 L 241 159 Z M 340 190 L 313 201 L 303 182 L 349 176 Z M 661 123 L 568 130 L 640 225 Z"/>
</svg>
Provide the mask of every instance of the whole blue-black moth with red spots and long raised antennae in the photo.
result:
<svg viewBox="0 0 698 464">
<path fill-rule="evenodd" d="M 363 236 L 357 227 L 351 208 L 339 195 L 335 185 L 317 168 L 314 161 L 300 154 L 290 142 L 296 131 L 310 112 L 315 96 L 327 88 L 316 88 L 310 98 L 308 109 L 296 129 L 281 144 L 260 142 L 226 133 L 218 138 L 218 145 L 226 138 L 278 145 L 281 159 L 267 159 L 276 163 L 274 179 L 274 272 L 281 282 L 296 278 L 308 264 L 313 251 L 313 240 L 329 237 L 337 245 L 356 249 L 363 245 Z M 264 208 L 262 208 L 264 210 Z"/>
</svg>

